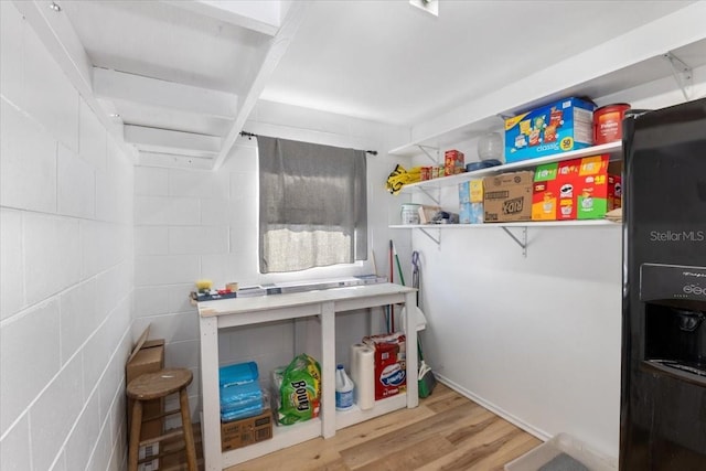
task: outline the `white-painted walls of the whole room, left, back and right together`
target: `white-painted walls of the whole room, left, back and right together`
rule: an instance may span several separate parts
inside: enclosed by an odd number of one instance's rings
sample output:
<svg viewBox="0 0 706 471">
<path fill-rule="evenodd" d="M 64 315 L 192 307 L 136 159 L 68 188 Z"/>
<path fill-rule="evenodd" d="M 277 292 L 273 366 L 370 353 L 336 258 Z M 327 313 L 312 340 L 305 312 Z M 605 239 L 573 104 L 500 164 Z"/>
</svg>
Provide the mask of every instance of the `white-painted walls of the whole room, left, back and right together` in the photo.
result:
<svg viewBox="0 0 706 471">
<path fill-rule="evenodd" d="M 242 139 L 215 173 L 132 169 L 15 7 L 3 1 L 0 9 L 0 469 L 122 469 L 131 336 L 150 322 L 152 336 L 167 339 L 167 364 L 196 373 L 196 408 L 197 317 L 186 299 L 193 281 L 292 277 L 256 270 L 254 142 Z M 694 73 L 693 96 L 704 96 L 705 71 Z M 651 107 L 681 94 L 661 81 L 650 93 L 603 99 Z M 378 150 L 368 160 L 377 271 L 389 272 L 391 238 L 408 282 L 411 247 L 421 251 L 430 322 L 422 340 L 435 370 L 541 436 L 573 432 L 617 456 L 618 232 L 531 229 L 526 259 L 494 228 L 446 232 L 437 247 L 418 232 L 387 229 L 407 200 L 384 190 L 396 163 L 385 152 L 409 141 L 408 132 L 267 103 L 246 129 Z M 300 276 L 355 270 L 373 268 Z M 373 314 L 373 329 L 379 319 Z M 355 329 L 367 329 L 359 321 L 340 319 L 341 345 L 360 338 Z M 307 329 L 270 324 L 226 333 L 221 360 L 258 360 L 267 372 L 307 344 L 293 331 Z"/>
</svg>

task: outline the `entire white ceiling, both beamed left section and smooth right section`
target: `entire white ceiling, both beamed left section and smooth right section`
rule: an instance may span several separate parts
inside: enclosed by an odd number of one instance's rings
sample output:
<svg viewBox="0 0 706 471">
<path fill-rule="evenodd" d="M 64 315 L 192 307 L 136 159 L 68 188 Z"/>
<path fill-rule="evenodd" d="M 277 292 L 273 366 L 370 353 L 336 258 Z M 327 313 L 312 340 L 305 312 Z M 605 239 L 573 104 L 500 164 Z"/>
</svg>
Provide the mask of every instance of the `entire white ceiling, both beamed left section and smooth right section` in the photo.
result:
<svg viewBox="0 0 706 471">
<path fill-rule="evenodd" d="M 126 142 L 216 165 L 258 99 L 411 127 L 694 3 L 55 2 L 15 4 Z"/>
</svg>

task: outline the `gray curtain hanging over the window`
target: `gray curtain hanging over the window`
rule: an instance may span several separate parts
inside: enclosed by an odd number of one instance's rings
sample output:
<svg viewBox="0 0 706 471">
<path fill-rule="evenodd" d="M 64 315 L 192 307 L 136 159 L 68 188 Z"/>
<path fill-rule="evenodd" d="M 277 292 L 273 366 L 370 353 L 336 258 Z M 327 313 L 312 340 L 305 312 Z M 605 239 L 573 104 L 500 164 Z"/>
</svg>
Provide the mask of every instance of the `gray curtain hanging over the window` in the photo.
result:
<svg viewBox="0 0 706 471">
<path fill-rule="evenodd" d="M 367 258 L 365 152 L 258 137 L 260 271 Z"/>
</svg>

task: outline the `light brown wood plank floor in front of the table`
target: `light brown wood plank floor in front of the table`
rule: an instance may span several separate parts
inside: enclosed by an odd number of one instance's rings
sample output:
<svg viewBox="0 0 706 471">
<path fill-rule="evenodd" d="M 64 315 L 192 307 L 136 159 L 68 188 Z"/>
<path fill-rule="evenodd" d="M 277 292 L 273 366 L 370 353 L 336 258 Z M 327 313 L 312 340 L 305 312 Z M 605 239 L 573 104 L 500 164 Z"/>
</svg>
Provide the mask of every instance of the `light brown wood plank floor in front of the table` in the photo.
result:
<svg viewBox="0 0 706 471">
<path fill-rule="evenodd" d="M 227 471 L 502 470 L 542 441 L 438 384 L 419 407 L 400 409 L 335 437 L 307 442 Z"/>
</svg>

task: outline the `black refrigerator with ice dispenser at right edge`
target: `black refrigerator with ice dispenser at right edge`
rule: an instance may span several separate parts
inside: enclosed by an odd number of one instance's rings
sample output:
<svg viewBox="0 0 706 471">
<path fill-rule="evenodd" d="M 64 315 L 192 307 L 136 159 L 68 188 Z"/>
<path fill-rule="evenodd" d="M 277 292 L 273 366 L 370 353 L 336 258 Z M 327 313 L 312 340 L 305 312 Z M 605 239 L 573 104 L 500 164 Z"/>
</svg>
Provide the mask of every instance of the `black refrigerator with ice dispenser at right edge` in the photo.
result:
<svg viewBox="0 0 706 471">
<path fill-rule="evenodd" d="M 706 99 L 623 121 L 620 471 L 706 470 Z"/>
</svg>

